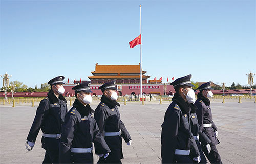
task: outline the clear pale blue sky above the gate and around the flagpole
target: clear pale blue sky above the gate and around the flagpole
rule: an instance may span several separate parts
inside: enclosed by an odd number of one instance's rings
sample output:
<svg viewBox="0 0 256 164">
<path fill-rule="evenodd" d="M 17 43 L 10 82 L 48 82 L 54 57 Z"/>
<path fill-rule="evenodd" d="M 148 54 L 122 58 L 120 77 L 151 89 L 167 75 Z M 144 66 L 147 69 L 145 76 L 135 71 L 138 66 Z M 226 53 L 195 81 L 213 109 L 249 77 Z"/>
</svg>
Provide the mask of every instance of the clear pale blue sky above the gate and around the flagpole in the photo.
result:
<svg viewBox="0 0 256 164">
<path fill-rule="evenodd" d="M 255 1 L 5 1 L 0 74 L 28 87 L 51 78 L 89 80 L 99 65 L 139 64 L 150 79 L 247 84 L 255 73 Z M 2 84 L 1 84 L 2 85 Z"/>
</svg>

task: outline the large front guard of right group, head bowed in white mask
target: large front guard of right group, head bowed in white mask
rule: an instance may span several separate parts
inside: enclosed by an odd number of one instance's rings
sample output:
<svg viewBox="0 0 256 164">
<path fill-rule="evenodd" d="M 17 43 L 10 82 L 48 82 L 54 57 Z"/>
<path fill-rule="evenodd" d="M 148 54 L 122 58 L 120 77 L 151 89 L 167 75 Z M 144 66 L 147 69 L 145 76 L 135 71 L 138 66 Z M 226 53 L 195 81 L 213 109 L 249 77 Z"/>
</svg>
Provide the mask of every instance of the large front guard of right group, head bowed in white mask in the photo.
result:
<svg viewBox="0 0 256 164">
<path fill-rule="evenodd" d="M 162 163 L 193 163 L 200 161 L 200 152 L 191 132 L 189 103 L 194 103 L 195 92 L 191 75 L 176 79 L 170 85 L 176 93 L 165 112 L 161 134 Z M 193 158 L 190 158 L 192 156 Z"/>
</svg>

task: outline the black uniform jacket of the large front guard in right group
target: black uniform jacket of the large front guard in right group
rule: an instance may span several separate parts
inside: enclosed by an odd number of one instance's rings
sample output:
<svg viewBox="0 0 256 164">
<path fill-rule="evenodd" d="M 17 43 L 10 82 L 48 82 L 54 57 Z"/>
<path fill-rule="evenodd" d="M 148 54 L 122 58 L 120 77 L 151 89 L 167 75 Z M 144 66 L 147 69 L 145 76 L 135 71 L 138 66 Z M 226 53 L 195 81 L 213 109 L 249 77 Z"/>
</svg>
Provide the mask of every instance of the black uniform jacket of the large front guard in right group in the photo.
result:
<svg viewBox="0 0 256 164">
<path fill-rule="evenodd" d="M 173 163 L 175 149 L 190 150 L 193 157 L 200 155 L 190 128 L 190 107 L 175 93 L 173 102 L 164 115 L 161 134 L 162 163 Z"/>
</svg>

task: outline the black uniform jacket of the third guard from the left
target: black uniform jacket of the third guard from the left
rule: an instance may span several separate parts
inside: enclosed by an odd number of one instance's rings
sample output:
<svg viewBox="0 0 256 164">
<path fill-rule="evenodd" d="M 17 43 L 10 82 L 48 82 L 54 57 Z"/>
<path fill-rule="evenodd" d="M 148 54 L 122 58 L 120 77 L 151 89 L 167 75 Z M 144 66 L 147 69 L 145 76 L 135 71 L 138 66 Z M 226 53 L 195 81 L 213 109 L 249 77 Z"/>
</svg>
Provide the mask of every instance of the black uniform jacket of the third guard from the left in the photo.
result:
<svg viewBox="0 0 256 164">
<path fill-rule="evenodd" d="M 117 106 L 120 106 L 120 104 L 110 100 L 105 95 L 102 95 L 101 102 L 95 109 L 94 118 L 99 126 L 100 133 L 103 136 L 105 132 L 118 132 L 121 130 L 121 136 L 125 142 L 128 142 L 131 140 L 131 136 L 120 119 L 120 113 Z M 113 157 L 115 157 L 113 160 L 120 160 L 123 158 L 121 136 L 104 136 L 106 143 L 112 151 Z M 99 148 L 95 144 L 95 150 L 97 149 Z M 113 154 L 114 152 L 116 152 L 116 155 Z"/>
</svg>

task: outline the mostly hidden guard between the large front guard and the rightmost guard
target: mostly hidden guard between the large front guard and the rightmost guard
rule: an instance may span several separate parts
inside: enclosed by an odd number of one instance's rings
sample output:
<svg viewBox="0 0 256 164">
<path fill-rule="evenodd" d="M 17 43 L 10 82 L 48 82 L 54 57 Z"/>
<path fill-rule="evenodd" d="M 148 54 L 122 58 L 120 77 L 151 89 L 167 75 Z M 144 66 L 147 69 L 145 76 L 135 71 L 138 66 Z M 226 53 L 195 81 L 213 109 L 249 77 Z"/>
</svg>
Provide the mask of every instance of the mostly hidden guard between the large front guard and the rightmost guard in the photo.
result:
<svg viewBox="0 0 256 164">
<path fill-rule="evenodd" d="M 204 156 L 204 153 L 202 151 L 202 146 L 205 146 L 207 148 L 207 153 L 210 152 L 210 144 L 211 140 L 207 137 L 207 135 L 201 131 L 200 125 L 198 124 L 198 119 L 197 119 L 197 106 L 195 106 L 193 103 L 189 104 L 191 111 L 190 111 L 190 120 L 191 120 L 191 132 L 193 134 L 194 139 L 196 140 L 198 150 L 201 154 L 201 160 L 199 163 L 207 163 L 207 160 Z M 194 163 L 197 163 L 196 161 L 193 161 Z"/>
</svg>

